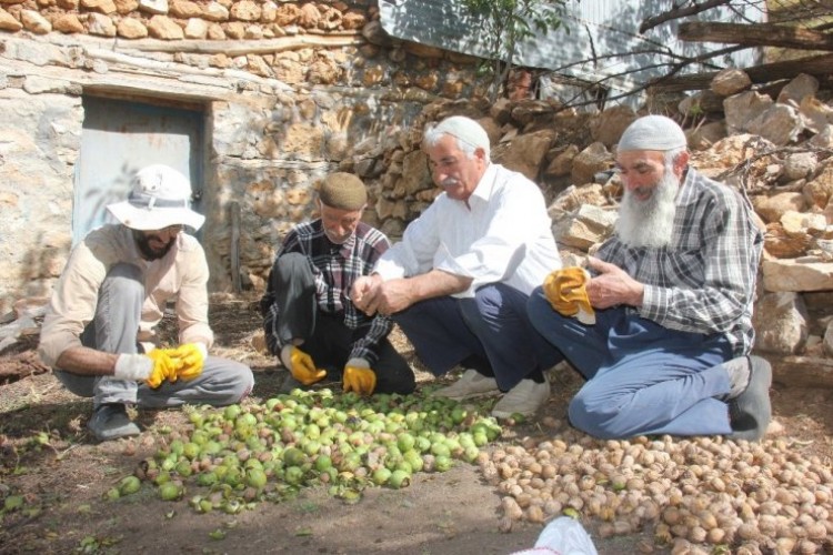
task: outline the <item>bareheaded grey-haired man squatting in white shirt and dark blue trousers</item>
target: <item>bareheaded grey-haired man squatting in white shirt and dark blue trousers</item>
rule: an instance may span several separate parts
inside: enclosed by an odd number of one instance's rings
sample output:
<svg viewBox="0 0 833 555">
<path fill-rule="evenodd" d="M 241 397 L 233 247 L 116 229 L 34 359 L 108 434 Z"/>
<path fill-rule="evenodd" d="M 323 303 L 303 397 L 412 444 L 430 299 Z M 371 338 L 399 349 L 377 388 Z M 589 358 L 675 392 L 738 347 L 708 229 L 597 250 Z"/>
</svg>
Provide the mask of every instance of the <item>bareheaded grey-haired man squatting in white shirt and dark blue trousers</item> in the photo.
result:
<svg viewBox="0 0 833 555">
<path fill-rule="evenodd" d="M 550 395 L 544 371 L 561 360 L 526 315 L 529 294 L 561 268 L 543 194 L 490 161 L 489 135 L 469 118 L 428 129 L 423 150 L 443 192 L 355 281 L 353 303 L 391 314 L 434 375 L 468 367 L 438 395 L 502 392 L 493 415 L 531 415 Z"/>
</svg>

